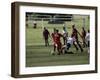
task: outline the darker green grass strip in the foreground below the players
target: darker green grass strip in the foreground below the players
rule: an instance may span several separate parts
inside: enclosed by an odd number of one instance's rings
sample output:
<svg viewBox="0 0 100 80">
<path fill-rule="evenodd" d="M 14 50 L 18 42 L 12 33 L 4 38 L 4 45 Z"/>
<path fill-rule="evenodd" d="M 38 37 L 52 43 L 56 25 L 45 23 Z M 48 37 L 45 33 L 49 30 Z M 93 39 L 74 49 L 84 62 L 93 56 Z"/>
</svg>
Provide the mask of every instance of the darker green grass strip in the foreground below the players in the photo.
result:
<svg viewBox="0 0 100 80">
<path fill-rule="evenodd" d="M 78 65 L 89 64 L 87 50 L 84 52 L 76 51 L 74 47 L 70 49 L 74 54 L 51 55 L 52 46 L 27 46 L 27 67 L 35 66 L 55 66 L 55 65 Z"/>
</svg>

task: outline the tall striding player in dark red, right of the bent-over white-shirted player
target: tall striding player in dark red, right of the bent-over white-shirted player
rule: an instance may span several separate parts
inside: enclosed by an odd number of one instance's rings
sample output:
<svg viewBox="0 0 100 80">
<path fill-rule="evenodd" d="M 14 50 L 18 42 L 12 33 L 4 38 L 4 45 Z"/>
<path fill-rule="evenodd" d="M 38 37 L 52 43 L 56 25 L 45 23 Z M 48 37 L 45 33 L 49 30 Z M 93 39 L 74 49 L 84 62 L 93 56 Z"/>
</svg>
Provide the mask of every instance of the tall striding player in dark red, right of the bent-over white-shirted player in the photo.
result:
<svg viewBox="0 0 100 80">
<path fill-rule="evenodd" d="M 79 40 L 78 40 L 78 34 L 80 35 L 80 33 L 75 28 L 75 25 L 72 25 L 72 35 L 71 36 L 75 38 L 75 41 L 73 42 L 73 45 L 75 46 L 76 50 L 78 50 L 78 47 L 77 47 L 77 45 L 78 45 L 81 52 L 83 52 L 83 48 L 81 47 L 81 45 L 79 43 Z M 77 43 L 77 45 L 75 44 L 75 42 Z"/>
</svg>

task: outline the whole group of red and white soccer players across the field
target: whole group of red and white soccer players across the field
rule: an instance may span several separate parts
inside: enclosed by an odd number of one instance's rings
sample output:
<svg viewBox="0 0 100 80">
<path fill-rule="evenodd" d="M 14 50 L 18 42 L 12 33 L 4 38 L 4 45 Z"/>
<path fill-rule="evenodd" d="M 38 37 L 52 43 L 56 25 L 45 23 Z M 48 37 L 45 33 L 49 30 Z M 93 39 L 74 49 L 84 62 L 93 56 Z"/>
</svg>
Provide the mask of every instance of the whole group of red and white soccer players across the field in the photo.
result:
<svg viewBox="0 0 100 80">
<path fill-rule="evenodd" d="M 82 42 L 79 41 L 78 35 L 82 38 Z M 49 46 L 49 37 L 51 37 L 53 41 L 53 51 L 52 54 L 55 54 L 57 50 L 57 54 L 60 55 L 62 53 L 68 53 L 69 48 L 74 45 L 76 50 L 79 49 L 81 52 L 83 52 L 83 48 L 87 47 L 89 52 L 89 45 L 90 45 L 90 31 L 86 32 L 84 27 L 82 27 L 82 33 L 80 34 L 78 30 L 76 29 L 75 25 L 72 25 L 72 33 L 71 35 L 68 35 L 68 31 L 66 27 L 63 27 L 62 33 L 59 33 L 59 30 L 54 28 L 54 32 L 50 34 L 47 28 L 44 27 L 43 30 L 43 37 L 45 40 L 45 46 Z M 61 38 L 63 38 L 63 44 L 61 42 Z M 82 45 L 80 44 L 82 43 Z"/>
</svg>

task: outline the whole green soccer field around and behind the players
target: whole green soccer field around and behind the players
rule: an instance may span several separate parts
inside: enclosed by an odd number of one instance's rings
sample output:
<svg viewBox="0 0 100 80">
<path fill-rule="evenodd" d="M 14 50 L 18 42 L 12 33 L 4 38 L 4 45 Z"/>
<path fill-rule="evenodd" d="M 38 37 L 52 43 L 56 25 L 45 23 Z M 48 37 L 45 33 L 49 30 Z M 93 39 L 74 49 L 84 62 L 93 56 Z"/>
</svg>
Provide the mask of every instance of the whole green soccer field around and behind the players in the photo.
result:
<svg viewBox="0 0 100 80">
<path fill-rule="evenodd" d="M 82 19 L 66 22 L 69 35 L 71 35 L 72 24 L 75 24 L 77 30 L 81 33 Z M 47 27 L 50 33 L 53 32 L 54 27 L 62 33 L 62 24 L 48 24 L 47 21 L 44 21 L 43 25 Z M 86 31 L 89 29 L 88 18 L 86 18 L 85 29 Z M 42 32 L 41 21 L 37 22 L 36 29 L 31 24 L 26 28 L 26 67 L 89 64 L 87 48 L 83 48 L 84 51 L 81 53 L 80 50 L 76 51 L 75 47 L 72 46 L 69 51 L 74 54 L 51 55 L 53 50 L 52 40 L 49 38 L 50 46 L 45 47 Z M 80 41 L 82 41 L 81 38 Z"/>
</svg>

